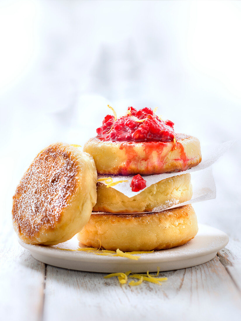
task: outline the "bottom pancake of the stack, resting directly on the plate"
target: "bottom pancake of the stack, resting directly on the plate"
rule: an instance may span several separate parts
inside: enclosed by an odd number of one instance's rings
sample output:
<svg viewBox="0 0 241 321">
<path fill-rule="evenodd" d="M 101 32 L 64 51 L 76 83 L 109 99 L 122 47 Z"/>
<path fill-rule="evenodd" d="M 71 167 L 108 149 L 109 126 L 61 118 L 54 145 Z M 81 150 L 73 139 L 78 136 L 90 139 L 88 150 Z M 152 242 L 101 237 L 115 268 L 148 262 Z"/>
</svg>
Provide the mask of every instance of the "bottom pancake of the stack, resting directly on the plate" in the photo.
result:
<svg viewBox="0 0 241 321">
<path fill-rule="evenodd" d="M 88 246 L 124 252 L 161 250 L 183 245 L 197 234 L 197 217 L 191 205 L 157 213 L 92 213 L 77 234 Z"/>
</svg>

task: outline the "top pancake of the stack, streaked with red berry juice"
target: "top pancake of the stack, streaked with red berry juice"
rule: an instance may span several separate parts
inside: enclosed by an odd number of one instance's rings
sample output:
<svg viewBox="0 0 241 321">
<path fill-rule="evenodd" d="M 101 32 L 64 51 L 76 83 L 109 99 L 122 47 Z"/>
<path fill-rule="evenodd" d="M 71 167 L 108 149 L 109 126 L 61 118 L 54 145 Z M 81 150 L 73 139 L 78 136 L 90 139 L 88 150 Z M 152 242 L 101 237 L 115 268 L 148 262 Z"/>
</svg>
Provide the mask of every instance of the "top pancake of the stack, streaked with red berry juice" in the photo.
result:
<svg viewBox="0 0 241 321">
<path fill-rule="evenodd" d="M 201 162 L 200 142 L 196 137 L 176 134 L 176 142 L 118 142 L 98 137 L 85 143 L 97 173 L 112 175 L 150 175 L 183 171 Z"/>
</svg>

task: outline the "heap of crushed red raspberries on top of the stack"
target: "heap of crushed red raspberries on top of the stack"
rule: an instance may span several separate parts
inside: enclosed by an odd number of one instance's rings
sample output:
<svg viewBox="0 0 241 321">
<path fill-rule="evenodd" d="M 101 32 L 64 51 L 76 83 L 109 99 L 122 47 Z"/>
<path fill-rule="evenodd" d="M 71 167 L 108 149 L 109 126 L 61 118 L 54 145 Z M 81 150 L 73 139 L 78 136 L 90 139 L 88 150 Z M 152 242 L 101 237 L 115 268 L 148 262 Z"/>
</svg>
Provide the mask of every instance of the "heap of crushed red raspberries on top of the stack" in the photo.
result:
<svg viewBox="0 0 241 321">
<path fill-rule="evenodd" d="M 106 115 L 103 125 L 96 129 L 97 137 L 103 141 L 122 142 L 171 142 L 174 140 L 174 123 L 160 119 L 151 108 L 136 110 L 129 107 L 128 113 L 116 121 L 114 116 Z M 138 122 L 137 120 L 143 121 Z"/>
</svg>

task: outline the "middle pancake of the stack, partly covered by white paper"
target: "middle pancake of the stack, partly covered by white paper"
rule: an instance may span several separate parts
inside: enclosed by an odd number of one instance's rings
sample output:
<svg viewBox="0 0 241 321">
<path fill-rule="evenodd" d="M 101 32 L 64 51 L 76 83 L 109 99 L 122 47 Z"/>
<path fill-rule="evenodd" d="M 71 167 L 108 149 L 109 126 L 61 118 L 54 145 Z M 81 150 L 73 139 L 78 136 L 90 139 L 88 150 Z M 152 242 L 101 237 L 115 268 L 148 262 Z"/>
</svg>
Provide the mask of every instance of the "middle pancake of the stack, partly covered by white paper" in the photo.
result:
<svg viewBox="0 0 241 321">
<path fill-rule="evenodd" d="M 97 183 L 94 212 L 135 213 L 162 211 L 192 198 L 191 175 L 183 174 L 151 185 L 143 192 L 128 197 L 112 187 Z"/>
</svg>

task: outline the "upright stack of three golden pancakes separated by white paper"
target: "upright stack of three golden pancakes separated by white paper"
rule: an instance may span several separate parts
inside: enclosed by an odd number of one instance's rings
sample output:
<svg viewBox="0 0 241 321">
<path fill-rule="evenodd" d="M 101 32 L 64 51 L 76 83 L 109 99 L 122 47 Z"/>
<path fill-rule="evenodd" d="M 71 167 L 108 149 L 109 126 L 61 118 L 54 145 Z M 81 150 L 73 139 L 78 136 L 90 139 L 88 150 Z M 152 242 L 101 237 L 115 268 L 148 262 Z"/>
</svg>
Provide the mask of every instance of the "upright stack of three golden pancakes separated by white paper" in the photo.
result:
<svg viewBox="0 0 241 321">
<path fill-rule="evenodd" d="M 176 134 L 176 142 L 155 143 L 155 149 L 153 142 L 105 142 L 92 138 L 84 151 L 93 156 L 97 173 L 106 175 L 183 171 L 201 161 L 199 140 L 184 134 Z M 161 180 L 130 198 L 98 182 L 97 203 L 90 220 L 78 233 L 78 240 L 88 247 L 98 247 L 101 242 L 105 249 L 125 252 L 183 245 L 198 231 L 192 206 L 161 210 L 191 198 L 190 174 Z"/>
</svg>

